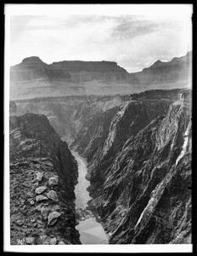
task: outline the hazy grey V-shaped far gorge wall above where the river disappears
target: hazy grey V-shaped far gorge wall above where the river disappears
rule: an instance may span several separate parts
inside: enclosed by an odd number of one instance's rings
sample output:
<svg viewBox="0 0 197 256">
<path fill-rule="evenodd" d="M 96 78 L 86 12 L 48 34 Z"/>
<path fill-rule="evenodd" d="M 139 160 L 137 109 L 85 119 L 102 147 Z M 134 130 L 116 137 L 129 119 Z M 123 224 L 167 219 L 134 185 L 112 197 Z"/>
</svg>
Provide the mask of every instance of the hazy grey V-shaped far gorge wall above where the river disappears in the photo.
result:
<svg viewBox="0 0 197 256">
<path fill-rule="evenodd" d="M 128 96 L 61 96 L 10 102 L 14 114 L 45 114 L 62 139 L 72 143 L 81 137 L 95 117 L 121 105 Z M 15 104 L 15 107 L 14 107 Z M 13 106 L 13 107 L 12 107 Z M 16 107 L 17 106 L 17 107 Z M 17 110 L 16 110 L 17 109 Z M 81 133 L 78 134 L 78 133 Z"/>
</svg>

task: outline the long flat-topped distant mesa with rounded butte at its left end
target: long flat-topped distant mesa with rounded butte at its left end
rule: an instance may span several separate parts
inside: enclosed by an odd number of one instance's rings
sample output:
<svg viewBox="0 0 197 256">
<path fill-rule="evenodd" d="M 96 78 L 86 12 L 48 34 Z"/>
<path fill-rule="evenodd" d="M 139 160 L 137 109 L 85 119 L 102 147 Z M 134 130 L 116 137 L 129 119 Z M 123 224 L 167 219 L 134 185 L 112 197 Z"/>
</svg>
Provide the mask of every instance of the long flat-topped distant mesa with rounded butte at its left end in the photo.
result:
<svg viewBox="0 0 197 256">
<path fill-rule="evenodd" d="M 47 65 L 35 56 L 11 67 L 10 73 L 11 81 L 49 79 L 78 83 L 93 79 L 120 81 L 126 77 L 127 71 L 113 61 L 59 61 Z"/>
</svg>

